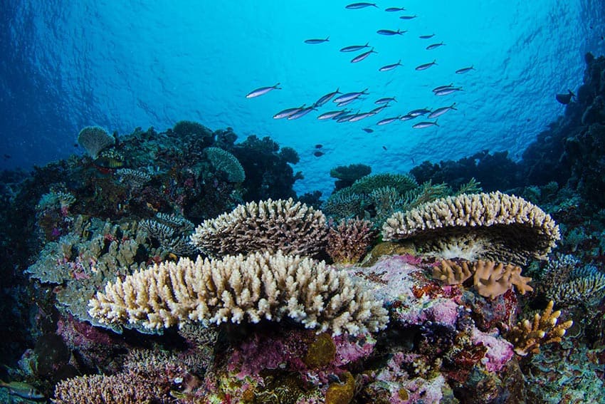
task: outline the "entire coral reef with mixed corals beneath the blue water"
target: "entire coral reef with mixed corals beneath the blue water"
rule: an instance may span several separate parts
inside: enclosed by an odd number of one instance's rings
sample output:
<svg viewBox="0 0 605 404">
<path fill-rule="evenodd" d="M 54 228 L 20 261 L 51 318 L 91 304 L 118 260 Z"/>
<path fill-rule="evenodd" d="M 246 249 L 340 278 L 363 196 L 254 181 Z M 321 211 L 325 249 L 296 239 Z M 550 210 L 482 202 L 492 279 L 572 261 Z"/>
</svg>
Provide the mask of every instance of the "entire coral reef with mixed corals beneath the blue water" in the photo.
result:
<svg viewBox="0 0 605 404">
<path fill-rule="evenodd" d="M 83 128 L 85 155 L 4 173 L 3 260 L 31 283 L 3 283 L 22 343 L 2 397 L 604 402 L 605 58 L 586 62 L 521 162 L 340 166 L 326 200 L 295 194 L 290 147 L 189 121 Z"/>
</svg>

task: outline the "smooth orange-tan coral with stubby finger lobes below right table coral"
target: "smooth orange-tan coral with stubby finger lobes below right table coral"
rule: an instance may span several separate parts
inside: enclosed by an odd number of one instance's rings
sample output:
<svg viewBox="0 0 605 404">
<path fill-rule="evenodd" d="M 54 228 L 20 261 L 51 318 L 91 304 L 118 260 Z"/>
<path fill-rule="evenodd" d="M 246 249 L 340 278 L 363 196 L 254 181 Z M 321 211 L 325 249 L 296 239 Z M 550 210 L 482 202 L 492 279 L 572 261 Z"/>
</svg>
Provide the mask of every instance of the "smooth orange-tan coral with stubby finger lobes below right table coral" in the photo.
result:
<svg viewBox="0 0 605 404">
<path fill-rule="evenodd" d="M 470 276 L 473 276 L 473 284 L 478 293 L 490 299 L 504 294 L 512 286 L 516 286 L 521 294 L 533 290 L 528 284 L 532 279 L 521 276 L 520 266 L 512 264 L 481 259 L 473 263 L 462 261 L 461 264 L 443 260 L 433 268 L 433 278 L 448 285 L 462 284 Z"/>
</svg>

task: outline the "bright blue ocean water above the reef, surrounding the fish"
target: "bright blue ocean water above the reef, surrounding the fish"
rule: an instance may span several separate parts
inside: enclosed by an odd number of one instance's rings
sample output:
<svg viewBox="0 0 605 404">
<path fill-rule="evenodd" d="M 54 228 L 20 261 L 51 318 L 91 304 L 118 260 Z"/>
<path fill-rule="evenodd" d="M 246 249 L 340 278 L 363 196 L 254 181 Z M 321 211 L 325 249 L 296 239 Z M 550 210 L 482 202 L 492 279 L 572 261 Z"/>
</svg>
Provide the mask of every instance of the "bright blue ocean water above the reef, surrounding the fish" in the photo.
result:
<svg viewBox="0 0 605 404">
<path fill-rule="evenodd" d="M 360 162 L 406 172 L 423 160 L 508 150 L 518 159 L 563 111 L 555 93 L 581 83 L 584 53 L 605 51 L 603 1 L 390 1 L 349 10 L 346 1 L 2 1 L 0 168 L 44 165 L 73 152 L 78 130 L 120 134 L 196 120 L 215 130 L 270 135 L 300 154 L 297 192 L 332 190 L 330 168 Z M 387 6 L 406 11 L 385 12 Z M 399 19 L 400 15 L 417 16 Z M 379 29 L 406 30 L 381 36 Z M 421 39 L 421 35 L 435 34 Z M 309 38 L 326 38 L 318 44 Z M 369 42 L 359 63 L 344 46 Z M 431 43 L 445 46 L 426 50 Z M 379 71 L 401 60 L 403 66 Z M 423 71 L 415 67 L 435 60 Z M 465 74 L 457 69 L 473 66 Z M 254 88 L 280 83 L 258 98 Z M 436 97 L 453 83 L 463 90 Z M 349 105 L 380 115 L 357 123 L 274 120 L 325 93 L 369 95 Z M 456 103 L 438 127 L 376 126 L 416 108 Z M 365 133 L 362 128 L 373 128 Z M 314 145 L 325 155 L 315 157 Z"/>
</svg>

